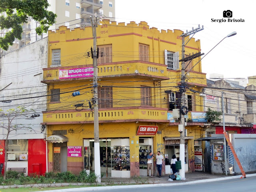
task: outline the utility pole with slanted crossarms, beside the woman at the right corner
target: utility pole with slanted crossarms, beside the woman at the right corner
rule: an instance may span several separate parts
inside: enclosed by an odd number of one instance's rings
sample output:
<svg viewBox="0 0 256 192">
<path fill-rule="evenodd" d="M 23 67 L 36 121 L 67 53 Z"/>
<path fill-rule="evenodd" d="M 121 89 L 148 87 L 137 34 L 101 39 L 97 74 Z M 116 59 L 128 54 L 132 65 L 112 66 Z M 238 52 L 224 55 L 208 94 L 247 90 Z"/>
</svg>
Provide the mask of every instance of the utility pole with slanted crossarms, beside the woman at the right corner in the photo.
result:
<svg viewBox="0 0 256 192">
<path fill-rule="evenodd" d="M 185 82 L 185 37 L 190 36 L 191 34 L 195 34 L 198 31 L 201 31 L 204 29 L 204 26 L 200 28 L 200 25 L 198 28 L 194 29 L 192 28 L 191 31 L 183 33 L 180 35 L 182 37 L 182 62 L 181 62 L 181 84 L 180 84 L 180 124 L 178 127 L 178 130 L 180 132 L 180 161 L 181 161 L 181 170 L 180 170 L 180 176 L 181 178 L 185 178 L 185 115 L 188 113 L 188 108 L 186 107 L 186 82 Z M 188 38 L 188 42 L 190 41 L 190 38 Z M 187 44 L 188 44 L 187 42 Z M 200 56 L 200 55 L 198 55 Z M 194 56 L 194 58 L 198 57 Z M 193 58 L 193 57 L 192 57 Z"/>
</svg>

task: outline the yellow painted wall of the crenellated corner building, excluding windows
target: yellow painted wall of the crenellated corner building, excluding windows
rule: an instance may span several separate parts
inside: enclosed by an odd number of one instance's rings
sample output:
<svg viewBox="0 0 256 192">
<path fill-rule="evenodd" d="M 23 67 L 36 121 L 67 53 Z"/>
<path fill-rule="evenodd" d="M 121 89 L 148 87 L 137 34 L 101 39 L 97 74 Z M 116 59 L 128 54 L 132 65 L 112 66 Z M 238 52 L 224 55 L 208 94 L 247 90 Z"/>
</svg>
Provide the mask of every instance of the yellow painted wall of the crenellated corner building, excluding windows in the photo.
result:
<svg viewBox="0 0 256 192">
<path fill-rule="evenodd" d="M 98 85 L 113 86 L 113 108 L 100 109 L 100 138 L 129 138 L 131 162 L 138 162 L 139 140 L 136 136 L 139 125 L 157 125 L 161 134 L 154 136 L 154 153 L 165 153 L 164 137 L 179 137 L 177 125 L 167 121 L 168 94 L 164 90 L 178 91 L 181 62 L 179 70 L 167 70 L 164 64 L 164 50 L 179 52 L 181 59 L 180 30 L 161 30 L 149 28 L 146 22 L 130 24 L 101 22 L 97 28 L 97 45 L 112 44 L 112 63 L 98 64 Z M 92 58 L 87 56 L 93 45 L 92 29 L 66 26 L 48 35 L 48 68 L 44 69 L 44 82 L 48 90 L 60 89 L 60 102 L 47 104 L 43 114 L 44 123 L 48 123 L 48 135 L 52 130 L 68 130 L 68 146 L 83 145 L 84 138 L 94 138 L 93 116 L 88 109 L 92 102 L 92 78 L 59 80 L 59 69 L 92 67 Z M 149 45 L 149 62 L 139 61 L 139 43 Z M 61 66 L 51 67 L 52 50 L 61 49 Z M 185 47 L 186 54 L 200 51 L 200 40 L 192 38 Z M 194 59 L 195 64 L 199 58 Z M 136 73 L 136 70 L 138 71 Z M 200 92 L 206 86 L 206 74 L 202 73 L 201 63 L 187 75 L 188 87 Z M 125 86 L 125 87 L 120 87 Z M 140 86 L 150 86 L 151 107 L 141 108 Z M 79 90 L 80 96 L 72 97 L 72 92 Z M 196 111 L 203 111 L 203 100 L 199 93 L 188 90 L 187 94 L 196 96 Z M 48 97 L 50 101 L 50 96 Z M 76 111 L 75 104 L 84 103 L 84 110 Z M 120 114 L 120 115 L 116 115 Z M 90 115 L 90 116 L 89 116 Z M 128 122 L 128 121 L 131 122 Z M 136 124 L 136 121 L 139 121 Z M 118 121 L 118 122 L 117 122 Z M 151 122 L 154 124 L 151 124 Z M 188 136 L 200 138 L 202 128 L 198 125 L 187 126 Z M 194 154 L 194 139 L 188 142 L 189 158 Z M 49 162 L 52 162 L 52 144 L 49 144 Z"/>
</svg>

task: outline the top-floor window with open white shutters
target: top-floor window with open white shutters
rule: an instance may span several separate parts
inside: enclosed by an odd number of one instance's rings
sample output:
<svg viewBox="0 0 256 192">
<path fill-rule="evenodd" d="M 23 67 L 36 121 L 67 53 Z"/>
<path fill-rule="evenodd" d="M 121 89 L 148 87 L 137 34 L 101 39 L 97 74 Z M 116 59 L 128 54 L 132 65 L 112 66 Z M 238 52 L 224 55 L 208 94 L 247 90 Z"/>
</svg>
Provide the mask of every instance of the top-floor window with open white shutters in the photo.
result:
<svg viewBox="0 0 256 192">
<path fill-rule="evenodd" d="M 167 69 L 179 69 L 179 52 L 164 50 L 164 59 L 164 64 L 166 64 Z"/>
</svg>

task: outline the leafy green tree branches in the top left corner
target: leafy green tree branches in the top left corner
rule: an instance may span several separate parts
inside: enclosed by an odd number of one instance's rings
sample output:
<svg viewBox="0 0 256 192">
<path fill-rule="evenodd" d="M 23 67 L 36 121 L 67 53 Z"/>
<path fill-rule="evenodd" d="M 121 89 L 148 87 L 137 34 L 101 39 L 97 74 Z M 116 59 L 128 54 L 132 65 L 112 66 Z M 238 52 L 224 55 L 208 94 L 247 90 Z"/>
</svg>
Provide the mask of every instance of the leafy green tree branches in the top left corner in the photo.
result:
<svg viewBox="0 0 256 192">
<path fill-rule="evenodd" d="M 0 0 L 0 13 L 6 12 L 6 17 L 0 16 L 0 28 L 11 29 L 4 37 L 0 37 L 0 47 L 8 50 L 15 38 L 22 38 L 22 24 L 27 23 L 28 16 L 40 22 L 36 28 L 37 34 L 46 33 L 57 17 L 47 10 L 49 6 L 47 0 Z"/>
</svg>

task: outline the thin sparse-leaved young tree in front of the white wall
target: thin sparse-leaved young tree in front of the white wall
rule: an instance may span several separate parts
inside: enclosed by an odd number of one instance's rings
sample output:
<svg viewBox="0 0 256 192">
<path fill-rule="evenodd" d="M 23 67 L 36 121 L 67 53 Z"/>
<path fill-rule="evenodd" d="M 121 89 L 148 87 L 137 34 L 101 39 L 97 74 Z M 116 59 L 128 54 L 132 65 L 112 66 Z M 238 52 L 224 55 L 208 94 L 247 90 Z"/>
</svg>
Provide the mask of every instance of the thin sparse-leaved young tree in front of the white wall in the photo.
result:
<svg viewBox="0 0 256 192">
<path fill-rule="evenodd" d="M 17 107 L 16 109 L 9 109 L 6 112 L 0 109 L 0 116 L 2 116 L 2 121 L 0 122 L 0 128 L 3 128 L 5 131 L 5 146 L 4 147 L 4 154 L 5 154 L 5 162 L 4 162 L 4 179 L 6 178 L 6 165 L 8 161 L 7 150 L 8 150 L 8 137 L 11 132 L 15 132 L 18 130 L 32 130 L 28 126 L 28 124 L 14 124 L 13 120 L 20 116 L 25 116 L 24 114 L 28 113 L 29 111 L 26 110 L 25 107 Z"/>
</svg>

